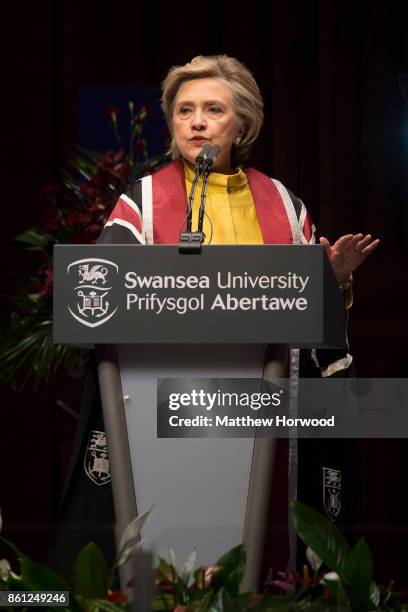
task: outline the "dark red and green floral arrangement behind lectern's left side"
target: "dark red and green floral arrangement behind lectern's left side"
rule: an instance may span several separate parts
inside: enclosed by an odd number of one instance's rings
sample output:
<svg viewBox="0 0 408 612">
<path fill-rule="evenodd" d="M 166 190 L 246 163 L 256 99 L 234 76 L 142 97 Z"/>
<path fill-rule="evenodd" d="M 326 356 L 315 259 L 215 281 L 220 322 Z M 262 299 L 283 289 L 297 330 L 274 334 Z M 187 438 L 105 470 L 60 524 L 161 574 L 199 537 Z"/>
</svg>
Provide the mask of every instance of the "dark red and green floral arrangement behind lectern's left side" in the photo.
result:
<svg viewBox="0 0 408 612">
<path fill-rule="evenodd" d="M 9 325 L 0 332 L 0 377 L 4 384 L 23 388 L 29 381 L 47 384 L 61 366 L 81 370 L 87 351 L 52 341 L 53 247 L 55 244 L 94 243 L 121 193 L 141 176 L 158 169 L 164 155 L 149 157 L 143 137 L 148 112 L 135 112 L 129 102 L 128 145 L 123 146 L 117 109 L 109 110 L 117 147 L 97 153 L 78 148 L 62 170 L 62 184 L 45 187 L 37 196 L 45 210 L 41 224 L 15 238 L 26 254 L 20 291 L 11 296 Z M 26 273 L 24 273 L 26 275 Z"/>
</svg>

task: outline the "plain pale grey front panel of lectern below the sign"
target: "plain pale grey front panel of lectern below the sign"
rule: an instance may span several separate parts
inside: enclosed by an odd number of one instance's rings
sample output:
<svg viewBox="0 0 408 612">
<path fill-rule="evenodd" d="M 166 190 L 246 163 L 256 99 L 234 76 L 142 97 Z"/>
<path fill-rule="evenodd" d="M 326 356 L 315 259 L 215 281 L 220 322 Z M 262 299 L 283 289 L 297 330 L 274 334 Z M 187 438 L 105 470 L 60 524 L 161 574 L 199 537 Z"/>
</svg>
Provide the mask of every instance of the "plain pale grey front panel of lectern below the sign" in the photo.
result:
<svg viewBox="0 0 408 612">
<path fill-rule="evenodd" d="M 213 563 L 244 536 L 254 440 L 158 439 L 157 378 L 261 378 L 264 347 L 121 346 L 121 372 L 138 512 L 152 503 L 142 537 L 160 555 Z"/>
</svg>

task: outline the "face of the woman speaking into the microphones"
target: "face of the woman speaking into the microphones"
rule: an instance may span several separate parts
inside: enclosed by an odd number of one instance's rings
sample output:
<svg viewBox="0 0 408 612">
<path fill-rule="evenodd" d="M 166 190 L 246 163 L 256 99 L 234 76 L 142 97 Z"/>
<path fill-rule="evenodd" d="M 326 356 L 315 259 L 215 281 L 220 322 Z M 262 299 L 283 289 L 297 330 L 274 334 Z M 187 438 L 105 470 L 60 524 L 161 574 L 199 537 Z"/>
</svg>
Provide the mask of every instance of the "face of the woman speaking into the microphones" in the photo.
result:
<svg viewBox="0 0 408 612">
<path fill-rule="evenodd" d="M 173 134 L 177 148 L 191 164 L 205 144 L 221 151 L 214 170 L 231 174 L 231 147 L 243 133 L 232 105 L 227 81 L 219 78 L 194 79 L 180 85 L 174 100 Z"/>
</svg>

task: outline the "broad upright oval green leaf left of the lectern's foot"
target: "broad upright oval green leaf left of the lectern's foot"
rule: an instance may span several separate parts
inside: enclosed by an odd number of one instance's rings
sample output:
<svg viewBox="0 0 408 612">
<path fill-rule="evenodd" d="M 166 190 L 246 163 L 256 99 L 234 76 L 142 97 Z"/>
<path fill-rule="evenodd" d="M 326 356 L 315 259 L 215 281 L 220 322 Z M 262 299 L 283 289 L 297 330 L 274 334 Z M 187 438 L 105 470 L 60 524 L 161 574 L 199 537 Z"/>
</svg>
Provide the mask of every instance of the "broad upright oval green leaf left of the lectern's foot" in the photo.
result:
<svg viewBox="0 0 408 612">
<path fill-rule="evenodd" d="M 109 568 L 100 548 L 87 544 L 74 565 L 74 592 L 87 599 L 105 597 L 109 587 Z"/>
</svg>

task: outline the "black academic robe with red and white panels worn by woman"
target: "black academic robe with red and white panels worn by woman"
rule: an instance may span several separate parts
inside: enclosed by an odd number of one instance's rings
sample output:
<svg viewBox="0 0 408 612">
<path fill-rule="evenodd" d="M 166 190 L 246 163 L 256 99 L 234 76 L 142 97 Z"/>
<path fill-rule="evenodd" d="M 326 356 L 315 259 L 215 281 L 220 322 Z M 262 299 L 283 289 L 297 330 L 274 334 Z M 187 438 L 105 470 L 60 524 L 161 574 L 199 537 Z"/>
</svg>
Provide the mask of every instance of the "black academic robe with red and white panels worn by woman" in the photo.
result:
<svg viewBox="0 0 408 612">
<path fill-rule="evenodd" d="M 314 244 L 316 230 L 303 204 L 279 181 L 249 168 L 245 170 L 256 207 L 257 217 L 265 244 Z M 99 239 L 101 244 L 177 244 L 186 218 L 187 194 L 183 163 L 176 161 L 151 176 L 133 184 L 123 194 Z M 295 351 L 291 357 L 291 375 L 302 376 L 344 375 L 351 357 L 346 350 Z M 81 407 L 80 424 L 74 444 L 69 481 L 62 500 L 57 538 L 52 561 L 56 569 L 67 573 L 78 550 L 90 540 L 96 541 L 108 559 L 114 557 L 113 503 L 108 470 L 105 479 L 94 482 L 87 470 L 89 449 L 95 440 L 103 445 L 104 426 L 96 382 L 95 364 L 91 363 L 87 397 Z M 278 463 L 275 471 L 273 507 L 271 507 L 270 546 L 280 557 L 268 556 L 267 542 L 265 567 L 280 563 L 284 569 L 285 537 L 282 522 L 287 522 L 287 441 L 279 441 Z M 341 475 L 342 486 L 350 471 L 350 449 L 344 441 L 299 441 L 298 498 L 319 511 L 322 504 L 322 468 L 332 468 Z M 278 480 L 277 480 L 278 479 Z M 346 487 L 347 488 L 347 487 Z M 286 491 L 286 493 L 285 493 Z M 341 513 L 349 510 L 344 499 Z M 281 506 L 279 508 L 279 505 Z M 340 514 L 340 513 L 339 513 Z M 338 517 L 336 517 L 338 518 Z M 274 528 L 277 526 L 277 528 Z M 276 561 L 277 559 L 277 561 Z M 215 561 L 215 559 L 214 559 Z M 302 559 L 300 560 L 302 563 Z"/>
</svg>

